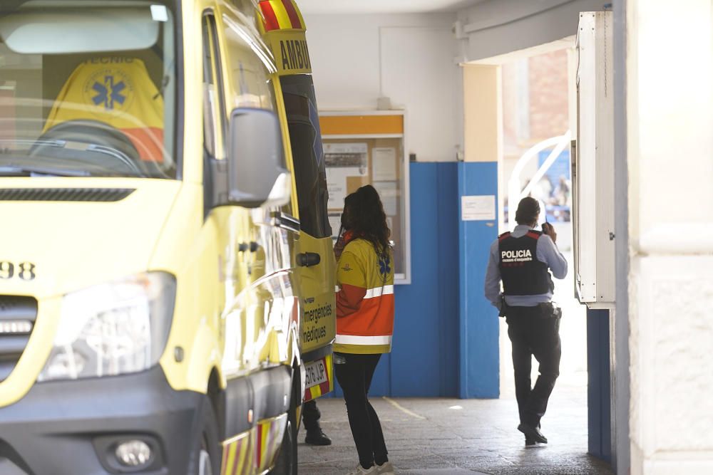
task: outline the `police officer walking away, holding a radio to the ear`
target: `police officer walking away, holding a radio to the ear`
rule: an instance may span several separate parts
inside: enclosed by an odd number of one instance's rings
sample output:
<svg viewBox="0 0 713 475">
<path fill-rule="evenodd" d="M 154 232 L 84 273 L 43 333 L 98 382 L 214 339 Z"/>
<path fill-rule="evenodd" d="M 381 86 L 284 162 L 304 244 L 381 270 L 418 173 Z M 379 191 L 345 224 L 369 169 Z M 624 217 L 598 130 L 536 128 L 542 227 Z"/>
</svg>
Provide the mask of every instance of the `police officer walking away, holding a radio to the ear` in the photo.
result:
<svg viewBox="0 0 713 475">
<path fill-rule="evenodd" d="M 560 309 L 552 303 L 555 278 L 565 278 L 567 261 L 557 249 L 557 233 L 545 223 L 535 231 L 540 217 L 537 200 L 525 197 L 515 213 L 518 225 L 493 242 L 486 273 L 485 294 L 508 322 L 513 343 L 515 397 L 520 410 L 518 430 L 525 446 L 547 443 L 540 419 L 560 374 Z M 503 281 L 501 293 L 500 281 Z M 532 357 L 540 363 L 540 376 L 532 387 Z"/>
</svg>

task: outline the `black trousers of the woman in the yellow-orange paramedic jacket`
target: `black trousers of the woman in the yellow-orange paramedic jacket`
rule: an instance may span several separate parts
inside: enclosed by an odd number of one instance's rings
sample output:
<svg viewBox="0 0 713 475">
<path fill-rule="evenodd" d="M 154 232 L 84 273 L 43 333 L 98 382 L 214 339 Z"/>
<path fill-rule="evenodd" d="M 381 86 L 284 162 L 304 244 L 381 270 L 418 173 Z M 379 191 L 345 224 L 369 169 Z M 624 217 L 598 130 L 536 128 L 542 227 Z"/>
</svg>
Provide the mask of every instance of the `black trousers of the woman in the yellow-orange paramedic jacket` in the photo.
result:
<svg viewBox="0 0 713 475">
<path fill-rule="evenodd" d="M 374 376 L 381 355 L 340 354 L 347 361 L 334 365 L 334 373 L 344 391 L 349 427 L 352 428 L 354 444 L 359 453 L 359 464 L 365 469 L 374 463 L 384 464 L 388 460 L 386 442 L 381 432 L 379 416 L 369 402 L 371 377 Z"/>
</svg>

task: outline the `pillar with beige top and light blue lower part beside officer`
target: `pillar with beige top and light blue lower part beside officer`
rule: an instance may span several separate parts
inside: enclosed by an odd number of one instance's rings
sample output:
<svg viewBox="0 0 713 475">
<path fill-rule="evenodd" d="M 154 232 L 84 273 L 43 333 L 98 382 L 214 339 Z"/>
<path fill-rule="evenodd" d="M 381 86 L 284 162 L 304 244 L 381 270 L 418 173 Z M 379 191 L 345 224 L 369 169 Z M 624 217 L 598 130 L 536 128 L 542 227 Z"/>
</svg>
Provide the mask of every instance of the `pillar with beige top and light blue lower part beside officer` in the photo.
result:
<svg viewBox="0 0 713 475">
<path fill-rule="evenodd" d="M 458 164 L 459 395 L 498 397 L 498 313 L 483 296 L 488 249 L 498 236 L 498 160 L 502 150 L 499 66 L 463 66 L 465 162 Z M 464 196 L 496 197 L 492 220 L 463 221 Z"/>
</svg>

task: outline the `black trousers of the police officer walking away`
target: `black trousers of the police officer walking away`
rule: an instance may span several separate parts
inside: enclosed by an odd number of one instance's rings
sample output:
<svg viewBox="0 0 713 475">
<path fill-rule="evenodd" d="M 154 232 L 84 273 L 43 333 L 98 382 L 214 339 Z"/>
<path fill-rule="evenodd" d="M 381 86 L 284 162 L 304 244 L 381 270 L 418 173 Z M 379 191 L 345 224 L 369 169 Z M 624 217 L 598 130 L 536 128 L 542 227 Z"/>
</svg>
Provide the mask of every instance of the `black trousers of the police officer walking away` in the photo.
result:
<svg viewBox="0 0 713 475">
<path fill-rule="evenodd" d="M 543 317 L 537 307 L 516 307 L 508 313 L 508 336 L 513 343 L 515 397 L 520 422 L 539 427 L 547 402 L 560 375 L 560 318 Z M 540 375 L 532 387 L 532 357 L 540 363 Z"/>
</svg>

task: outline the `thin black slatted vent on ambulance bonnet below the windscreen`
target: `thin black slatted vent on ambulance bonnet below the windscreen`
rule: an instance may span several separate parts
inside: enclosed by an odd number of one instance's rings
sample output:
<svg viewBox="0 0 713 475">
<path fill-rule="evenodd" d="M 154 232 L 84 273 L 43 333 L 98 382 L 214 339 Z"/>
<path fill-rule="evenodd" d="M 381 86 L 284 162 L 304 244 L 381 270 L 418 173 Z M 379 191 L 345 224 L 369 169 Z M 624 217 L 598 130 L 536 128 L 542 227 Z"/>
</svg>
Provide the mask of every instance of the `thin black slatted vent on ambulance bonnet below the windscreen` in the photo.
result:
<svg viewBox="0 0 713 475">
<path fill-rule="evenodd" d="M 129 188 L 5 188 L 4 202 L 118 202 L 133 193 Z"/>
</svg>

